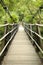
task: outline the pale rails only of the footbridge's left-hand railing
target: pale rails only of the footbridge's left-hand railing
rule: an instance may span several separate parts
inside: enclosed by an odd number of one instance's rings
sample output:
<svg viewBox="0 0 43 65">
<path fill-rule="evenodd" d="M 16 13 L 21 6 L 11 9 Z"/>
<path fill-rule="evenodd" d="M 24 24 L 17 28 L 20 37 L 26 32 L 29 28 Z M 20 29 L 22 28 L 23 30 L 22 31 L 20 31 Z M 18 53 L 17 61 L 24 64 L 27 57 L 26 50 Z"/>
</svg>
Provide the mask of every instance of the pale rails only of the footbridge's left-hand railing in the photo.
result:
<svg viewBox="0 0 43 65">
<path fill-rule="evenodd" d="M 3 54 L 3 52 L 6 49 L 6 47 L 8 46 L 9 42 L 12 40 L 12 38 L 14 37 L 14 35 L 16 34 L 16 32 L 18 30 L 18 24 L 14 24 L 13 23 L 13 24 L 3 24 L 3 25 L 0 25 L 0 27 L 7 27 L 7 26 L 12 26 L 12 29 L 10 31 L 8 31 L 7 33 L 5 33 L 3 37 L 0 38 L 0 42 L 3 41 L 9 35 L 10 35 L 10 38 L 7 41 L 7 43 L 5 44 L 5 46 L 3 47 L 3 49 L 0 51 L 0 57 Z M 0 43 L 0 45 L 1 45 L 1 43 Z"/>
</svg>

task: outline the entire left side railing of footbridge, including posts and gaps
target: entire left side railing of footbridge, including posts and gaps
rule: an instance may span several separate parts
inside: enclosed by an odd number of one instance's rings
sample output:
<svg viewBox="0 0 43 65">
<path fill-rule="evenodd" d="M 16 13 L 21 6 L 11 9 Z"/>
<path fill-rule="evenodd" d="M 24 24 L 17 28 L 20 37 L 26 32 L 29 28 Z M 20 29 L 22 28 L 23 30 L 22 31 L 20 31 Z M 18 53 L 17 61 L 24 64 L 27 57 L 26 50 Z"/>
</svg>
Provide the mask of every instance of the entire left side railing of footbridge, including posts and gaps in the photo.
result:
<svg viewBox="0 0 43 65">
<path fill-rule="evenodd" d="M 12 38 L 14 37 L 14 35 L 18 31 L 18 24 L 17 23 L 0 25 L 0 29 L 3 28 L 3 27 L 4 27 L 4 34 L 0 38 L 0 57 L 4 53 L 4 51 L 7 48 L 9 42 L 12 40 Z"/>
</svg>

